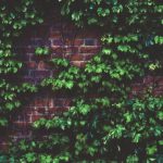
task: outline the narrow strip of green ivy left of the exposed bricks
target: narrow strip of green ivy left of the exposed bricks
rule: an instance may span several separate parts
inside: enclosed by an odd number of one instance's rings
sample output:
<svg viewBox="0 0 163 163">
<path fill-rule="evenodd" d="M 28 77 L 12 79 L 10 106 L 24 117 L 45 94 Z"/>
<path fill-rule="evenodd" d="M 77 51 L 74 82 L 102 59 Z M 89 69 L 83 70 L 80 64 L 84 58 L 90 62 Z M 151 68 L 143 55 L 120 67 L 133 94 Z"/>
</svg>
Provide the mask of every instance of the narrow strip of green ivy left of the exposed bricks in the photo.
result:
<svg viewBox="0 0 163 163">
<path fill-rule="evenodd" d="M 14 47 L 25 27 L 42 22 L 33 5 L 33 0 L 0 2 L 0 128 L 9 124 L 10 113 L 20 108 L 20 95 L 36 91 L 34 86 L 18 83 L 23 64 Z"/>
</svg>

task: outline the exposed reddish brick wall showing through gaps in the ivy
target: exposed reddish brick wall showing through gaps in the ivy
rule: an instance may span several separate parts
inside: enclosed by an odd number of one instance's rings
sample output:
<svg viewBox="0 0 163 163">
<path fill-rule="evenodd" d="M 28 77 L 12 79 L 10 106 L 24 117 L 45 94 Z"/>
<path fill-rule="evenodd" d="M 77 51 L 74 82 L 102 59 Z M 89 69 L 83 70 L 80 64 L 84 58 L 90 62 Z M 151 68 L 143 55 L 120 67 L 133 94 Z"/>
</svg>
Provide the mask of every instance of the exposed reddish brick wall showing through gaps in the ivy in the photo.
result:
<svg viewBox="0 0 163 163">
<path fill-rule="evenodd" d="M 15 41 L 16 52 L 20 60 L 24 62 L 24 68 L 21 72 L 23 79 L 37 85 L 45 77 L 53 76 L 54 67 L 47 64 L 47 61 L 52 58 L 66 58 L 71 64 L 84 66 L 101 48 L 99 36 L 98 29 L 78 29 L 71 23 L 57 20 L 28 28 L 22 38 Z M 51 54 L 36 57 L 35 48 L 41 46 L 49 47 Z M 154 85 L 154 93 L 163 95 L 163 76 L 147 76 L 136 82 L 133 85 L 133 93 L 141 92 L 147 85 Z M 10 138 L 29 138 L 32 122 L 40 117 L 51 118 L 67 110 L 72 98 L 50 90 L 41 90 L 36 95 L 27 96 L 24 106 L 13 116 L 11 128 L 0 135 L 0 149 L 7 149 Z"/>
</svg>

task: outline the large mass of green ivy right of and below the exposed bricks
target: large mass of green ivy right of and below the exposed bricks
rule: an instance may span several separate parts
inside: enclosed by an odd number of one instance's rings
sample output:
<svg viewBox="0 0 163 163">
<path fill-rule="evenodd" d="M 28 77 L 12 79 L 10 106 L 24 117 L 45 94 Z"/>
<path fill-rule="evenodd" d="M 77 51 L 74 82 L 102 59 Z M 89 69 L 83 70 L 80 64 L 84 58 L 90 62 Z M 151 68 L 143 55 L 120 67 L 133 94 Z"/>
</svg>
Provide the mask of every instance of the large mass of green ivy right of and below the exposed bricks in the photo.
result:
<svg viewBox="0 0 163 163">
<path fill-rule="evenodd" d="M 155 162 L 163 150 L 163 97 L 153 95 L 153 85 L 134 95 L 131 84 L 162 71 L 162 3 L 159 0 L 60 3 L 61 13 L 72 17 L 76 25 L 98 26 L 104 32 L 102 48 L 83 68 L 65 59 L 51 60 L 59 73 L 43 79 L 41 86 L 72 93 L 73 104 L 60 116 L 35 122 L 33 140 L 14 146 L 10 161 Z"/>
</svg>

